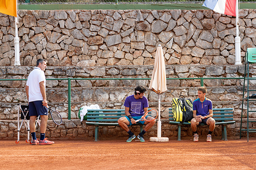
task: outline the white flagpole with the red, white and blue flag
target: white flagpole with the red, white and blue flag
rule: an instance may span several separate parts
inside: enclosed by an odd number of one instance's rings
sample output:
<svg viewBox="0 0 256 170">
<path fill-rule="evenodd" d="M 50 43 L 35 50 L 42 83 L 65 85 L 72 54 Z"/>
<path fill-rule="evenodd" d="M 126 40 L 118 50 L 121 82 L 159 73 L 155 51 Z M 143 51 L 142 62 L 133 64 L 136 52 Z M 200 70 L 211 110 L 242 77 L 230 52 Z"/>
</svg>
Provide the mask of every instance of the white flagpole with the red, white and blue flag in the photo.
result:
<svg viewBox="0 0 256 170">
<path fill-rule="evenodd" d="M 236 37 L 235 37 L 235 49 L 236 49 L 236 62 L 235 65 L 241 65 L 241 38 L 239 37 L 239 3 L 236 0 Z"/>
</svg>

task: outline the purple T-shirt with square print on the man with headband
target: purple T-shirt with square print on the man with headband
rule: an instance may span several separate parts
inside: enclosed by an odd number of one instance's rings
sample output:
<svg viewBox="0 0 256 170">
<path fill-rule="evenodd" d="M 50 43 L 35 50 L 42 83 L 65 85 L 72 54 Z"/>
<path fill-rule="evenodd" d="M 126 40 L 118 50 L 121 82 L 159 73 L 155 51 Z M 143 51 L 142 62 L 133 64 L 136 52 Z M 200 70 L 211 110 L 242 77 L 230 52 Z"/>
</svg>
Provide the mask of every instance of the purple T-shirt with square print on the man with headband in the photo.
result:
<svg viewBox="0 0 256 170">
<path fill-rule="evenodd" d="M 144 108 L 148 108 L 148 99 L 145 96 L 135 99 L 134 95 L 131 95 L 126 97 L 124 106 L 129 108 L 131 116 L 142 116 L 145 113 Z"/>
</svg>

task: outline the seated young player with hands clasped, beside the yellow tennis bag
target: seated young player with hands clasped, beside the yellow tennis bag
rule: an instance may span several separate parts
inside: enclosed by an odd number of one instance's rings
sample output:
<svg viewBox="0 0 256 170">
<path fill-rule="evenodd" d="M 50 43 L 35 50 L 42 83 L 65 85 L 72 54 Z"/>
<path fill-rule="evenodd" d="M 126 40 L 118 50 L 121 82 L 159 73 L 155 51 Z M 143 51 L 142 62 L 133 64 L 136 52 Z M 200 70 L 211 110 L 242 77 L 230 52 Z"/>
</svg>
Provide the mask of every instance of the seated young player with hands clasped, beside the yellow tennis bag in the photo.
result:
<svg viewBox="0 0 256 170">
<path fill-rule="evenodd" d="M 191 120 L 191 128 L 194 132 L 194 141 L 198 142 L 197 125 L 204 123 L 209 126 L 207 142 L 212 142 L 212 132 L 215 128 L 215 120 L 212 118 L 212 101 L 205 97 L 207 89 L 205 87 L 198 88 L 198 99 L 193 102 L 193 119 Z"/>
</svg>

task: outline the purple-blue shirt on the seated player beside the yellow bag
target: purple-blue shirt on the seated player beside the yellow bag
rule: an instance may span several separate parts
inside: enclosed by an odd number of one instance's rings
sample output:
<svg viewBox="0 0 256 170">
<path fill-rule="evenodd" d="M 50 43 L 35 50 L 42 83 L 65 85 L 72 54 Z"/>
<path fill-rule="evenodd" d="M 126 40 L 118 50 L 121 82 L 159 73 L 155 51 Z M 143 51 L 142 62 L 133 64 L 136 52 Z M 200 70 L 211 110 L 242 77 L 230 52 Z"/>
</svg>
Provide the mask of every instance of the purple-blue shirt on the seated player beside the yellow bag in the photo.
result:
<svg viewBox="0 0 256 170">
<path fill-rule="evenodd" d="M 196 111 L 196 115 L 207 116 L 209 110 L 212 110 L 212 101 L 205 98 L 204 102 L 201 102 L 200 99 L 195 99 L 193 102 L 193 111 Z"/>
</svg>

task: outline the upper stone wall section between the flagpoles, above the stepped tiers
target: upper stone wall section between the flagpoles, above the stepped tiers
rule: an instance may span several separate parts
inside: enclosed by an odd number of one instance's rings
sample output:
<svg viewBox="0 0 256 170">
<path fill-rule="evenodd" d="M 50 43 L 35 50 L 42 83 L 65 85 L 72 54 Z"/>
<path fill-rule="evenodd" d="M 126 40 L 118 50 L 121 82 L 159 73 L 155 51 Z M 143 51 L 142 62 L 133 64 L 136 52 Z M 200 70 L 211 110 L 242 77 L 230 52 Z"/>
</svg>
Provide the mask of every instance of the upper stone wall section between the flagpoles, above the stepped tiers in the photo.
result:
<svg viewBox="0 0 256 170">
<path fill-rule="evenodd" d="M 239 12 L 241 55 L 255 47 L 256 12 Z M 21 65 L 152 65 L 235 62 L 236 18 L 212 10 L 19 10 Z M 14 65 L 14 17 L 0 14 L 0 65 Z"/>
</svg>

